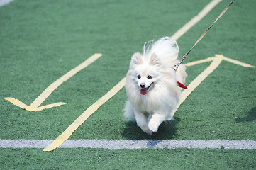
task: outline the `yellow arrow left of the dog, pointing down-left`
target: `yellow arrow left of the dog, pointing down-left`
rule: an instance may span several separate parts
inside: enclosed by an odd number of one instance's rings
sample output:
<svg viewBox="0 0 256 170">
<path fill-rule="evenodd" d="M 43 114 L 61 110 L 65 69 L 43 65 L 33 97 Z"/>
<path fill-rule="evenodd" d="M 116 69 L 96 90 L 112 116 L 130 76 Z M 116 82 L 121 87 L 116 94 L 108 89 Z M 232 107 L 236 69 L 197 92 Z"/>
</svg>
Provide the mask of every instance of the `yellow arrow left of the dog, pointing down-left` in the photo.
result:
<svg viewBox="0 0 256 170">
<path fill-rule="evenodd" d="M 75 67 L 74 69 L 64 74 L 62 77 L 60 77 L 60 79 L 57 79 L 56 81 L 54 81 L 52 84 L 50 84 L 50 86 L 48 86 L 48 88 L 45 89 L 45 91 L 43 91 L 42 94 L 40 94 L 40 96 L 38 96 L 38 98 L 35 98 L 35 101 L 33 101 L 33 103 L 31 103 L 30 106 L 22 103 L 16 98 L 6 97 L 4 99 L 6 99 L 6 101 L 13 103 L 14 105 L 20 108 L 25 109 L 26 111 L 41 111 L 46 108 L 52 108 L 52 107 L 64 105 L 66 103 L 59 102 L 59 103 L 52 103 L 46 106 L 40 106 L 40 104 L 43 103 L 43 101 L 45 101 L 45 99 L 48 98 L 48 96 L 50 96 L 50 94 L 52 94 L 52 92 L 55 91 L 55 89 L 57 89 L 58 86 L 60 86 L 63 82 L 67 81 L 70 77 L 73 77 L 74 74 L 77 74 L 77 72 L 81 71 L 82 69 L 87 67 L 89 64 L 91 64 L 101 56 L 102 54 L 99 54 L 99 53 L 92 55 L 87 60 L 79 64 L 77 67 Z"/>
</svg>

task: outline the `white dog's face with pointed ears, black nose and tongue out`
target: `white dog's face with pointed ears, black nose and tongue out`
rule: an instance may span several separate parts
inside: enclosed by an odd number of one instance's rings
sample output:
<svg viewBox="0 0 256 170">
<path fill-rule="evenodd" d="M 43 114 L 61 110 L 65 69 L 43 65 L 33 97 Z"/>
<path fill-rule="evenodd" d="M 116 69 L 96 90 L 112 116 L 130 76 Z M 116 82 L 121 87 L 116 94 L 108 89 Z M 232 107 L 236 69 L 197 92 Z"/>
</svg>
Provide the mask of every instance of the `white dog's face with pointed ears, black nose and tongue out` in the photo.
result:
<svg viewBox="0 0 256 170">
<path fill-rule="evenodd" d="M 133 55 L 130 62 L 130 76 L 137 83 L 140 94 L 147 94 L 159 81 L 159 64 L 159 58 L 155 54 L 150 57 L 150 62 L 143 60 L 140 53 Z"/>
</svg>

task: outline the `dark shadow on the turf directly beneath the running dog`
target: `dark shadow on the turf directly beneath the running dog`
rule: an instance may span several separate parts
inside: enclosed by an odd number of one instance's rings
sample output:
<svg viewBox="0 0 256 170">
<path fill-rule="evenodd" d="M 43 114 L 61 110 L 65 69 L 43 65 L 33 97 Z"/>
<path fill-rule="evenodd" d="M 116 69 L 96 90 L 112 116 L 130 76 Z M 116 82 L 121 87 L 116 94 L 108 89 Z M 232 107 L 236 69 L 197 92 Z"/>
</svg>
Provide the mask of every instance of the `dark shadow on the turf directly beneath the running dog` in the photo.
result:
<svg viewBox="0 0 256 170">
<path fill-rule="evenodd" d="M 171 140 L 174 136 L 177 136 L 176 124 L 179 123 L 180 119 L 169 120 L 163 122 L 158 128 L 157 132 L 152 132 L 152 135 L 148 135 L 141 130 L 137 123 L 126 122 L 126 128 L 122 133 L 122 136 L 128 140 L 152 140 L 149 145 L 157 145 L 153 140 Z M 150 147 L 148 146 L 148 147 Z"/>
</svg>

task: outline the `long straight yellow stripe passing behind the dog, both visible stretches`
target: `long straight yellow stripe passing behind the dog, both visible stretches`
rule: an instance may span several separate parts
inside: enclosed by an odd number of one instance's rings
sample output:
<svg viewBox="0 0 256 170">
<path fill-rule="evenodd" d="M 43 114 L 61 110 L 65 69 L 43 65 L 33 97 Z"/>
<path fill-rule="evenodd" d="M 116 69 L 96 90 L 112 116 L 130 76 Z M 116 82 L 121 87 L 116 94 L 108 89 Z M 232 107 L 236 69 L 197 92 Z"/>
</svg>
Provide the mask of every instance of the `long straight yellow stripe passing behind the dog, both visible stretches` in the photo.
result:
<svg viewBox="0 0 256 170">
<path fill-rule="evenodd" d="M 187 32 L 187 30 L 189 30 L 192 26 L 194 26 L 198 21 L 200 21 L 202 18 L 204 18 L 204 16 L 206 16 L 206 14 L 211 11 L 211 9 L 213 9 L 221 0 L 213 0 L 211 1 L 205 8 L 203 8 L 203 10 L 198 14 L 198 16 L 195 16 L 194 18 L 191 19 L 191 21 L 189 21 L 189 24 L 185 24 L 182 28 L 180 28 L 177 32 L 179 33 L 174 33 L 174 35 L 172 35 L 172 39 L 177 40 L 178 38 L 180 38 L 184 33 Z M 187 26 L 186 26 L 187 25 Z M 124 77 L 117 85 L 118 85 L 118 91 L 120 91 L 123 86 L 125 86 L 125 81 L 126 81 L 126 77 Z M 117 86 L 116 85 L 116 86 Z M 108 91 L 108 93 L 114 93 L 114 94 L 108 94 L 111 97 L 114 96 L 118 91 L 113 91 L 112 89 L 111 91 Z M 104 97 L 104 96 L 103 96 Z M 102 98 L 103 98 L 102 97 Z M 108 98 L 109 99 L 109 98 Z M 101 100 L 101 99 L 99 99 Z M 105 101 L 106 102 L 106 101 Z M 104 102 L 104 103 L 105 103 Z M 95 103 L 94 103 L 95 104 Z M 92 106 L 94 106 L 94 104 Z M 103 103 L 102 103 L 103 104 Z M 91 107 L 92 107 L 91 106 Z M 97 107 L 99 108 L 99 107 Z M 96 109 L 97 109 L 96 108 Z M 87 111 L 88 110 L 88 111 Z M 96 110 L 94 109 L 87 109 L 86 111 L 84 111 L 84 113 L 82 113 L 82 115 L 79 116 L 79 118 L 77 118 L 77 120 L 75 120 L 76 122 L 79 123 L 72 123 L 71 125 L 69 125 L 69 127 L 62 132 L 62 135 L 60 135 L 59 137 L 57 137 L 56 140 L 54 140 L 54 142 L 52 142 L 52 144 L 50 144 L 48 147 L 45 147 L 45 149 L 43 149 L 43 151 L 47 151 L 50 152 L 52 150 L 54 150 L 57 147 L 60 147 L 60 145 L 62 145 L 63 142 L 65 142 L 65 140 L 67 140 L 70 135 L 72 135 L 72 133 L 74 132 L 74 130 L 77 130 L 77 128 L 79 127 L 79 125 L 82 125 L 82 123 L 84 123 L 85 120 L 87 120 L 87 118 L 89 118 L 88 115 L 93 114 Z M 87 112 L 87 113 L 85 113 Z M 70 127 L 71 126 L 71 127 Z"/>
</svg>

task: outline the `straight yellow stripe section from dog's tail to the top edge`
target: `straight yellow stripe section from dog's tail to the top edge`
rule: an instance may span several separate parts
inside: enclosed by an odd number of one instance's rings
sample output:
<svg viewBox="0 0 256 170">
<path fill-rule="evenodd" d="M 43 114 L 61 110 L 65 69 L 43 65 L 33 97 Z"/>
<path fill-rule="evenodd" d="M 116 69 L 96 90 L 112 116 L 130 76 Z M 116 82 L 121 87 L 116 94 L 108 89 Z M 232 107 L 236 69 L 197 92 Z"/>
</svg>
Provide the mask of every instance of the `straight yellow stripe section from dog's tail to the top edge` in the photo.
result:
<svg viewBox="0 0 256 170">
<path fill-rule="evenodd" d="M 205 6 L 200 12 L 199 14 L 197 14 L 196 16 L 194 16 L 194 18 L 192 18 L 188 23 L 186 23 L 182 28 L 180 28 L 176 33 L 174 33 L 174 35 L 172 35 L 172 39 L 173 40 L 177 40 L 179 39 L 182 35 L 184 35 L 184 33 L 187 33 L 187 31 L 193 27 L 194 25 L 196 25 L 196 23 L 198 23 L 199 21 L 201 21 L 202 18 L 204 18 L 204 16 L 206 16 L 216 5 L 218 5 L 218 3 L 220 3 L 222 0 L 213 0 L 211 1 L 207 6 Z"/>
</svg>

